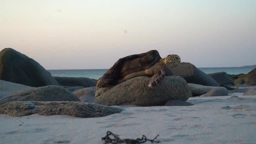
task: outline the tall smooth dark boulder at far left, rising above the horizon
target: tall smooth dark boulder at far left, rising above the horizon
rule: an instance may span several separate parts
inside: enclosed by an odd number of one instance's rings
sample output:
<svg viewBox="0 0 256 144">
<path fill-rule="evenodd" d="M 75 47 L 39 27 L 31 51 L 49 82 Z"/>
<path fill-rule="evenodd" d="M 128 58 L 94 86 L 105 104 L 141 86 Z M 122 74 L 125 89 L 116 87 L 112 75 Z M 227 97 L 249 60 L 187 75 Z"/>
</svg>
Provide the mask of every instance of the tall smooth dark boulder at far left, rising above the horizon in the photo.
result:
<svg viewBox="0 0 256 144">
<path fill-rule="evenodd" d="M 0 80 L 32 87 L 58 85 L 38 62 L 12 48 L 0 52 Z"/>
</svg>

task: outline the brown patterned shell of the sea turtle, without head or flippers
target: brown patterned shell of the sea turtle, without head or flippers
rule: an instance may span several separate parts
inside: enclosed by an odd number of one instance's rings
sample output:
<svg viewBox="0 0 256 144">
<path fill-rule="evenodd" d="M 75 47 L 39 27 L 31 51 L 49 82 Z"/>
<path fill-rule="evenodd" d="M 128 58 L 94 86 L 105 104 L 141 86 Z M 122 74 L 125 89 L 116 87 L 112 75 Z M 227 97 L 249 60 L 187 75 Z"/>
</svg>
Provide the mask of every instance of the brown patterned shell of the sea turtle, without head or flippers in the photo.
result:
<svg viewBox="0 0 256 144">
<path fill-rule="evenodd" d="M 161 57 L 157 50 L 126 56 L 120 58 L 101 78 L 111 80 L 114 83 L 116 80 L 121 80 L 128 74 L 151 68 L 160 59 Z"/>
</svg>

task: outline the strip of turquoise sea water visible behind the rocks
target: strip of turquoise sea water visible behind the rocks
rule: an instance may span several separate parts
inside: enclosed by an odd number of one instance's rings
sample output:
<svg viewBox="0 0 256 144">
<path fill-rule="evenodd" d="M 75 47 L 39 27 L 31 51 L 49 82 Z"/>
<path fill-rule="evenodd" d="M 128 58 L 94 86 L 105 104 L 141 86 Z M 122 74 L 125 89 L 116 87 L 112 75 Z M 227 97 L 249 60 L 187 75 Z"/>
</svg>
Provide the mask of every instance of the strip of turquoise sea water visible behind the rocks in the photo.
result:
<svg viewBox="0 0 256 144">
<path fill-rule="evenodd" d="M 198 68 L 206 74 L 214 72 L 226 72 L 228 74 L 247 74 L 252 67 L 234 67 L 234 68 Z M 48 70 L 52 76 L 66 76 L 66 77 L 87 77 L 98 80 L 107 69 L 90 69 L 90 70 Z"/>
</svg>

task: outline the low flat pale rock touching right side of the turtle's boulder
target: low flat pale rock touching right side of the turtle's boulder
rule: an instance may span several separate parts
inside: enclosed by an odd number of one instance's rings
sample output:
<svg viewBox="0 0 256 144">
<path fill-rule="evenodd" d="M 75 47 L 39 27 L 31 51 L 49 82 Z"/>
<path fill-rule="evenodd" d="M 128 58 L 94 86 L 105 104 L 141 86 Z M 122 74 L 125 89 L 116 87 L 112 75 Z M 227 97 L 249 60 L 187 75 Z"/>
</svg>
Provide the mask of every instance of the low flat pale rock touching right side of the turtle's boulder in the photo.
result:
<svg viewBox="0 0 256 144">
<path fill-rule="evenodd" d="M 216 86 L 202 86 L 200 84 L 191 84 L 191 83 L 188 83 L 188 86 L 193 96 L 201 96 L 203 94 L 206 94 L 213 88 L 218 88 Z"/>
</svg>

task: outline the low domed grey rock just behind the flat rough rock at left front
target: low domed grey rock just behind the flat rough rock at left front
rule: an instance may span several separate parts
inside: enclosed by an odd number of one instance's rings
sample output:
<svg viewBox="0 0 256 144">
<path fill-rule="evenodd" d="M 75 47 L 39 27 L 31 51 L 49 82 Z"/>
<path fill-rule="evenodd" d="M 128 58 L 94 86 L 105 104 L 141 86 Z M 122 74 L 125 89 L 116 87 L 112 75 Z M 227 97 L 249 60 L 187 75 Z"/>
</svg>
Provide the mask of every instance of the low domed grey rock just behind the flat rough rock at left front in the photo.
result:
<svg viewBox="0 0 256 144">
<path fill-rule="evenodd" d="M 0 100 L 0 105 L 12 101 L 80 101 L 80 99 L 61 86 L 43 86 L 4 98 Z"/>
</svg>

